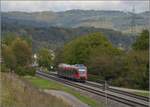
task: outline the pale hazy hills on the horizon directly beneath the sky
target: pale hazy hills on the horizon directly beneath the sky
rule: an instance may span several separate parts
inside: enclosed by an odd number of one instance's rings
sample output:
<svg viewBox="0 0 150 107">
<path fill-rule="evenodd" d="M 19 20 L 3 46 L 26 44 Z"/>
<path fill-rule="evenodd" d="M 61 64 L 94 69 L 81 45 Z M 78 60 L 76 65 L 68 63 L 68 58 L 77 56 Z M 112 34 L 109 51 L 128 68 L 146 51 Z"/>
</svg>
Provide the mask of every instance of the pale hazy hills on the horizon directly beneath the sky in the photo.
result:
<svg viewBox="0 0 150 107">
<path fill-rule="evenodd" d="M 149 26 L 150 12 L 131 13 L 123 11 L 69 10 L 64 12 L 2 12 L 2 21 L 20 20 L 20 25 L 36 27 L 96 27 L 130 32 L 134 22 L 136 32 Z M 133 20 L 134 18 L 134 20 Z"/>
</svg>

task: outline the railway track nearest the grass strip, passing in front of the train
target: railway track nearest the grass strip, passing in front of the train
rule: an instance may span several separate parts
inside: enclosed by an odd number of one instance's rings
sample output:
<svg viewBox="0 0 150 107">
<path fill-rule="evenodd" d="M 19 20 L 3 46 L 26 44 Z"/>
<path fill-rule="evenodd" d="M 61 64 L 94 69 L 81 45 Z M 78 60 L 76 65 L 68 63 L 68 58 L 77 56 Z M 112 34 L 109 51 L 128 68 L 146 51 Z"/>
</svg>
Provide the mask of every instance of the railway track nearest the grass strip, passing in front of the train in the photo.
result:
<svg viewBox="0 0 150 107">
<path fill-rule="evenodd" d="M 47 79 L 53 79 L 55 81 L 67 84 L 75 88 L 82 89 L 84 91 L 96 94 L 98 96 L 106 97 L 107 94 L 108 99 L 117 101 L 119 103 L 123 103 L 131 107 L 149 107 L 149 103 L 145 99 L 138 99 L 137 97 L 135 98 L 135 96 L 131 97 L 127 95 L 122 95 L 122 93 L 116 94 L 114 92 L 111 92 L 111 90 L 102 91 L 96 85 L 91 87 L 91 85 L 89 85 L 88 82 L 86 84 L 77 83 L 77 82 L 69 81 L 67 79 L 58 78 L 55 74 L 50 75 L 49 73 L 43 73 L 39 71 L 37 72 L 37 75 Z"/>
</svg>

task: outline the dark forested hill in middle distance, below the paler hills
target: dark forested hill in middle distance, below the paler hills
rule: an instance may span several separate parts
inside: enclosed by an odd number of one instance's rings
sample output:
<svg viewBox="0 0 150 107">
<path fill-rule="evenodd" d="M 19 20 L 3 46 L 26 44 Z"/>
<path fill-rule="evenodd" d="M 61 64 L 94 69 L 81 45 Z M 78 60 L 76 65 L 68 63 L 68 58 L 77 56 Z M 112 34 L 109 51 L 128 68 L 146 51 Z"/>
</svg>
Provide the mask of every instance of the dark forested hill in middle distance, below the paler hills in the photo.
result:
<svg viewBox="0 0 150 107">
<path fill-rule="evenodd" d="M 33 23 L 33 26 L 31 25 Z M 37 24 L 37 26 L 34 26 Z M 43 25 L 43 26 L 39 26 Z M 33 49 L 46 46 L 52 49 L 63 46 L 63 44 L 71 39 L 86 35 L 93 32 L 102 32 L 115 46 L 129 48 L 135 40 L 135 36 L 122 34 L 121 32 L 111 29 L 94 28 L 94 27 L 78 27 L 78 28 L 61 28 L 44 26 L 43 22 L 34 22 L 20 19 L 2 18 L 2 36 L 8 33 L 17 33 L 32 37 Z"/>
</svg>

